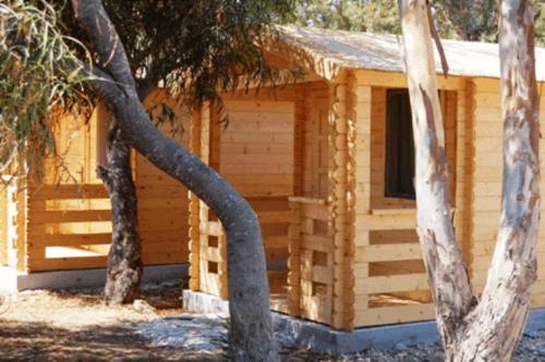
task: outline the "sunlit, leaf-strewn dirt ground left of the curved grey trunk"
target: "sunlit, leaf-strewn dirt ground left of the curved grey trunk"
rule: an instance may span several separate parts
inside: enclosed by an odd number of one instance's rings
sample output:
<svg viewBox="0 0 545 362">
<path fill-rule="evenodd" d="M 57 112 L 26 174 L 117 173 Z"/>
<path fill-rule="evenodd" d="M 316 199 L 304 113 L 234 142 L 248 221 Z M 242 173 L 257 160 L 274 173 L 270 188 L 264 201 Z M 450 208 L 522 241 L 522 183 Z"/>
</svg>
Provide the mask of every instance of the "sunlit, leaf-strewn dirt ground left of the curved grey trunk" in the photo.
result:
<svg viewBox="0 0 545 362">
<path fill-rule="evenodd" d="M 148 288 L 144 302 L 108 307 L 97 290 L 24 291 L 0 307 L 0 361 L 219 361 L 152 346 L 133 327 L 183 312 L 181 286 Z M 150 308 L 152 305 L 153 308 Z"/>
</svg>

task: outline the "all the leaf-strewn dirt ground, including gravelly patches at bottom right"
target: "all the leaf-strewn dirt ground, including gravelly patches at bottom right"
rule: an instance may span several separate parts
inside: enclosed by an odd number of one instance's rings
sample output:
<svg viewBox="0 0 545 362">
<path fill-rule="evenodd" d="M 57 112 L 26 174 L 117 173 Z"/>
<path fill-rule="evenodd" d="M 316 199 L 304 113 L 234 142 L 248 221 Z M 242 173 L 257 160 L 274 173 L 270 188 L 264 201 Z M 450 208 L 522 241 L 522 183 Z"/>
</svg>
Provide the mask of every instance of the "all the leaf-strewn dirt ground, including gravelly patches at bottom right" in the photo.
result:
<svg viewBox="0 0 545 362">
<path fill-rule="evenodd" d="M 225 361 L 221 352 L 159 347 L 136 326 L 185 313 L 181 282 L 146 286 L 141 300 L 108 307 L 100 289 L 0 294 L 1 361 Z M 443 362 L 440 346 L 366 350 L 335 360 L 305 350 L 281 351 L 284 362 Z M 514 362 L 545 361 L 545 330 L 525 336 Z"/>
</svg>

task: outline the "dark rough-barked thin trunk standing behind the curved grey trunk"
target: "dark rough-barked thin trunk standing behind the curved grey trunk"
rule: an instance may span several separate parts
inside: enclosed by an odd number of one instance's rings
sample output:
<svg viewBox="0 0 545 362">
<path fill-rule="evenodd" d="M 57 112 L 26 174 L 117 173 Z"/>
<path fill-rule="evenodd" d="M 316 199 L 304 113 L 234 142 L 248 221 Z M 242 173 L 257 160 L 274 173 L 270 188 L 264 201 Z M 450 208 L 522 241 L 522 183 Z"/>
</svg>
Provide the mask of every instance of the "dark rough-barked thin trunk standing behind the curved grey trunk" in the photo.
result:
<svg viewBox="0 0 545 362">
<path fill-rule="evenodd" d="M 131 303 L 138 295 L 142 248 L 138 234 L 136 190 L 131 174 L 131 149 L 112 121 L 108 135 L 108 164 L 97 173 L 110 197 L 111 246 L 108 253 L 105 299 L 107 303 Z"/>
</svg>

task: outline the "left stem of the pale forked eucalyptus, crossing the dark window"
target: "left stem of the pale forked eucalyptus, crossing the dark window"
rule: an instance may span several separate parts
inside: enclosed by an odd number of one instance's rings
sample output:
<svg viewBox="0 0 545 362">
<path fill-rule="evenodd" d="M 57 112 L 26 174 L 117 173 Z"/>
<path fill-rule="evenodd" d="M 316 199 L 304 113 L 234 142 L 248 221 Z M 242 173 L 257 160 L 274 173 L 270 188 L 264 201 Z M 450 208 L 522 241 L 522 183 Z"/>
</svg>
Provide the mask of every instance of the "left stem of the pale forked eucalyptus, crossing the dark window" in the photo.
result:
<svg viewBox="0 0 545 362">
<path fill-rule="evenodd" d="M 415 145 L 416 232 L 437 325 L 448 348 L 475 301 L 450 217 L 445 127 L 426 0 L 403 0 L 401 14 Z"/>
</svg>

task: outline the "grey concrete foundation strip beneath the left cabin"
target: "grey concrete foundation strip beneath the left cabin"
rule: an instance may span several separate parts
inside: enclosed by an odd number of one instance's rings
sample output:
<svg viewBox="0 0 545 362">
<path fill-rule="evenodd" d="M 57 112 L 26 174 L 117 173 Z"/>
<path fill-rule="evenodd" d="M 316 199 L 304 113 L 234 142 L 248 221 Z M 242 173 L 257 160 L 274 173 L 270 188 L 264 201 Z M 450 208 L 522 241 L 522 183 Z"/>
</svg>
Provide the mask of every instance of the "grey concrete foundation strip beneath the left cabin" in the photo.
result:
<svg viewBox="0 0 545 362">
<path fill-rule="evenodd" d="M 164 282 L 187 277 L 189 264 L 144 266 L 142 283 Z M 101 287 L 106 283 L 106 269 L 20 273 L 12 267 L 0 267 L 0 289 L 65 289 Z"/>
</svg>

